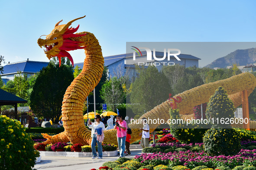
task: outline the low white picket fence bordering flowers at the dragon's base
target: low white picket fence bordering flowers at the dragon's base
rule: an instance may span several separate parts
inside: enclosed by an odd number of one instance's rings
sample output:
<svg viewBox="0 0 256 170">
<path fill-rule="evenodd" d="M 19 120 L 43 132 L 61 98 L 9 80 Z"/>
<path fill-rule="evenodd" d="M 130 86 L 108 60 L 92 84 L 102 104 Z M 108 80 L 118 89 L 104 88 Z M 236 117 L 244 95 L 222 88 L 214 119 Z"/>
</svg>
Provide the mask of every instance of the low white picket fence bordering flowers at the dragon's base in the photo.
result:
<svg viewBox="0 0 256 170">
<path fill-rule="evenodd" d="M 57 157 L 92 157 L 92 152 L 54 152 L 39 151 L 41 156 L 57 156 Z M 98 155 L 98 152 L 97 152 Z M 104 151 L 103 157 L 117 156 L 117 151 Z"/>
</svg>

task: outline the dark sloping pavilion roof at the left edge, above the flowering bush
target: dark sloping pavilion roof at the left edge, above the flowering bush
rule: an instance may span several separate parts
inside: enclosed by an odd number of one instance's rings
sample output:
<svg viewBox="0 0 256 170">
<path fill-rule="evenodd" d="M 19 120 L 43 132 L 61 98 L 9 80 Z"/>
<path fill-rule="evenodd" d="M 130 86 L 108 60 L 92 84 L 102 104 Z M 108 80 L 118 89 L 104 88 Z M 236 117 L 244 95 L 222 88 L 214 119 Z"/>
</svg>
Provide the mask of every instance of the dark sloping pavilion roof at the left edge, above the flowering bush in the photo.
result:
<svg viewBox="0 0 256 170">
<path fill-rule="evenodd" d="M 23 98 L 0 89 L 0 105 L 12 105 L 15 103 L 27 103 Z"/>
</svg>

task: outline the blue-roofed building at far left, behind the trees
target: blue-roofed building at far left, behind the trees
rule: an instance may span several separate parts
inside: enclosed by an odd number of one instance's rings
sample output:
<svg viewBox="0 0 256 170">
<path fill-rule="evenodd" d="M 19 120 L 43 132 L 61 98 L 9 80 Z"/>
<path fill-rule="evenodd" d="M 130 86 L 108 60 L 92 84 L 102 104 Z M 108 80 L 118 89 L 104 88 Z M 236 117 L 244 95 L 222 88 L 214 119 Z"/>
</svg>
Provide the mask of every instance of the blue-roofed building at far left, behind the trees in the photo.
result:
<svg viewBox="0 0 256 170">
<path fill-rule="evenodd" d="M 34 75 L 36 72 L 39 72 L 43 67 L 48 66 L 49 62 L 41 62 L 41 61 L 20 61 L 16 63 L 8 63 L 3 66 L 3 74 L 1 74 L 1 78 L 6 84 L 9 80 L 13 80 L 14 76 L 17 72 L 21 72 L 21 75 L 27 75 L 30 77 Z"/>
</svg>

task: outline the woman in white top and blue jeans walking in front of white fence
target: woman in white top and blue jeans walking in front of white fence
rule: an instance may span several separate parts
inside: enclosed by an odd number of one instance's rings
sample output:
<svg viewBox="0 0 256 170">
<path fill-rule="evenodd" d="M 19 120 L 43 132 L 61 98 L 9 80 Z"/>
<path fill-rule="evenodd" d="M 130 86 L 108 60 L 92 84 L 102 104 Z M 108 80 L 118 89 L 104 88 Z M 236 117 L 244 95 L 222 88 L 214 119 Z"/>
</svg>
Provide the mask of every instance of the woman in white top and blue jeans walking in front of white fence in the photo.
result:
<svg viewBox="0 0 256 170">
<path fill-rule="evenodd" d="M 104 133 L 103 131 L 105 130 L 105 125 L 104 123 L 101 122 L 101 118 L 100 115 L 96 115 L 95 116 L 95 121 L 94 123 L 91 124 L 91 120 L 88 120 L 88 127 L 91 129 L 91 150 L 92 150 L 92 159 L 95 159 L 97 156 L 96 153 L 96 143 L 98 145 L 98 153 L 99 153 L 99 157 L 98 159 L 102 159 L 103 157 L 103 153 L 102 153 L 102 145 L 101 142 L 103 141 L 104 138 Z"/>
</svg>

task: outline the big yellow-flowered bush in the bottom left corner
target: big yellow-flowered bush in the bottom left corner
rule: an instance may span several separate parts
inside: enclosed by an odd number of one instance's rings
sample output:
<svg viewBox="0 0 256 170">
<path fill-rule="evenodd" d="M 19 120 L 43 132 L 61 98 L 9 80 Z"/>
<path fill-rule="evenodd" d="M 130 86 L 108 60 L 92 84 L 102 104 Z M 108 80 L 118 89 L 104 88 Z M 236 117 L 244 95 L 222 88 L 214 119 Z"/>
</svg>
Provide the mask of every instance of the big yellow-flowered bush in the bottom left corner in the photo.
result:
<svg viewBox="0 0 256 170">
<path fill-rule="evenodd" d="M 32 170 L 39 152 L 18 120 L 0 116 L 0 167 L 6 170 Z"/>
</svg>

